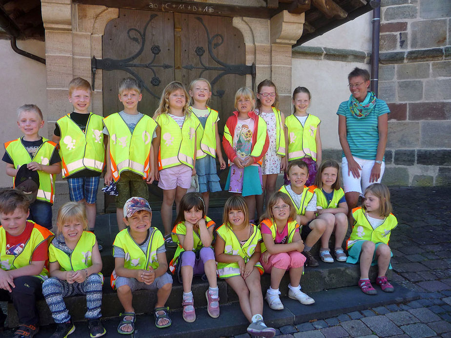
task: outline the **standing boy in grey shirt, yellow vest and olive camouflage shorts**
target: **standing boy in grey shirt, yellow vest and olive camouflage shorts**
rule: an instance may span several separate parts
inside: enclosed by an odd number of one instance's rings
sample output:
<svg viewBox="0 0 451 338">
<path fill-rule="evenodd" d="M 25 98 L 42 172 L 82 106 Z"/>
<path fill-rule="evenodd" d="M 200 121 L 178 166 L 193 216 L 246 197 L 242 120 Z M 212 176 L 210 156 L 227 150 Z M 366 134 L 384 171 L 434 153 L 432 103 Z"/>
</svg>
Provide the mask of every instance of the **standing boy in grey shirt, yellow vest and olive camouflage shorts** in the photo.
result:
<svg viewBox="0 0 451 338">
<path fill-rule="evenodd" d="M 105 184 L 112 180 L 117 182 L 116 218 L 121 231 L 125 229 L 125 201 L 132 196 L 149 198 L 147 184 L 154 179 L 152 136 L 157 124 L 149 116 L 138 112 L 138 102 L 143 94 L 137 80 L 123 79 L 119 83 L 118 96 L 123 103 L 123 111 L 103 119 L 103 134 L 109 136 L 104 181 Z"/>
</svg>

